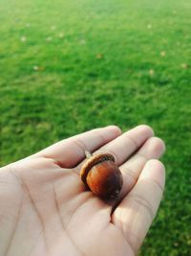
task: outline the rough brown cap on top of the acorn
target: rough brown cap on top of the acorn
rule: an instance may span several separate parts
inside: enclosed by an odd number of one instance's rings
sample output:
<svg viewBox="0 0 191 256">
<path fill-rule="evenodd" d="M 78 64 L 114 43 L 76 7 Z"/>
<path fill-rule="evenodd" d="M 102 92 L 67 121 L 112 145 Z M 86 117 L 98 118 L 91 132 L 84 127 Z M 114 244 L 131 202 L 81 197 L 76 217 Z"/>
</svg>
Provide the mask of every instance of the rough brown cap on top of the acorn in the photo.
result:
<svg viewBox="0 0 191 256">
<path fill-rule="evenodd" d="M 87 158 L 87 161 L 82 165 L 80 176 L 82 181 L 87 185 L 86 177 L 90 170 L 98 163 L 103 161 L 113 161 L 115 162 L 115 157 L 111 153 L 97 153 Z"/>
</svg>

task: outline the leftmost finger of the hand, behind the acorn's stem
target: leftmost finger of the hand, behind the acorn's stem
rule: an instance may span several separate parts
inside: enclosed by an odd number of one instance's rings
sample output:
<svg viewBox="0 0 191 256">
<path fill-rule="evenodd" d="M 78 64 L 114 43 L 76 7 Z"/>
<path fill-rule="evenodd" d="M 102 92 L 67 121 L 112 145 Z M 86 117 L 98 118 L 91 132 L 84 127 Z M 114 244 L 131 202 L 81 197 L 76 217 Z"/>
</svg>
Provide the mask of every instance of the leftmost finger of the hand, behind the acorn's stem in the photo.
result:
<svg viewBox="0 0 191 256">
<path fill-rule="evenodd" d="M 72 168 L 85 157 L 85 150 L 96 151 L 120 134 L 121 131 L 116 126 L 96 128 L 55 143 L 35 155 L 52 158 L 59 166 Z"/>
</svg>

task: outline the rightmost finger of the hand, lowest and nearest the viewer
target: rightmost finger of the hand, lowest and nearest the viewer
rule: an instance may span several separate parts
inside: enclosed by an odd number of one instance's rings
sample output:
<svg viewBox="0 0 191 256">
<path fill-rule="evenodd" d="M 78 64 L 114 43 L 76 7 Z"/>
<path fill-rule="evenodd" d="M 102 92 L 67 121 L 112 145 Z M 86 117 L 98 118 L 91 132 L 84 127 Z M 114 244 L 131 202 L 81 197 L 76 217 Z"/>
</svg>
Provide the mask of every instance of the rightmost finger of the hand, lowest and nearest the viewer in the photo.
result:
<svg viewBox="0 0 191 256">
<path fill-rule="evenodd" d="M 159 160 L 148 161 L 138 183 L 123 198 L 112 216 L 112 221 L 122 230 L 135 253 L 159 208 L 164 180 L 165 171 Z"/>
</svg>

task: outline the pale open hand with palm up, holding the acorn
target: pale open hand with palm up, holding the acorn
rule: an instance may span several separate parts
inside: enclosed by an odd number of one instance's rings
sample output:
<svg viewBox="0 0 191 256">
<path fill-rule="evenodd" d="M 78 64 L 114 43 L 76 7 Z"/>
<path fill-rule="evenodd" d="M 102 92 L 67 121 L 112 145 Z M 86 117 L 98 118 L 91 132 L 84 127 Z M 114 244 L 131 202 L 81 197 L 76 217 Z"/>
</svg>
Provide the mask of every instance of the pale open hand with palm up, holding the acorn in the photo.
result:
<svg viewBox="0 0 191 256">
<path fill-rule="evenodd" d="M 121 134 L 110 126 L 1 168 L 0 255 L 136 255 L 162 197 L 164 148 L 152 128 Z M 86 190 L 79 178 L 84 149 L 114 154 L 123 175 L 117 200 Z"/>
</svg>

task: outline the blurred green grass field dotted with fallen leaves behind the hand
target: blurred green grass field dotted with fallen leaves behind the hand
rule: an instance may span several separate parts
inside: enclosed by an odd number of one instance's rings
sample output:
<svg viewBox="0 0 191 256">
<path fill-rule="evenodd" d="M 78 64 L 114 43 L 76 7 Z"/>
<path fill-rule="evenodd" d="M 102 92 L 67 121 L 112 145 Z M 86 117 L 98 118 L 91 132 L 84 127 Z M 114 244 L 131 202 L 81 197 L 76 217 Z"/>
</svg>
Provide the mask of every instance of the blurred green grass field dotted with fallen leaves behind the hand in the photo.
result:
<svg viewBox="0 0 191 256">
<path fill-rule="evenodd" d="M 142 256 L 191 255 L 190 9 L 0 0 L 1 165 L 90 128 L 152 126 L 167 182 Z"/>
</svg>

